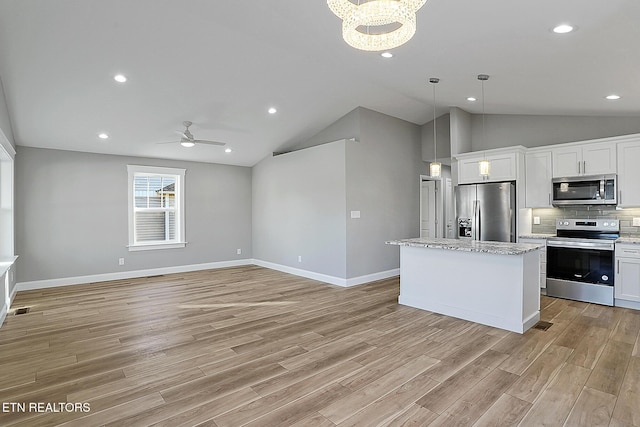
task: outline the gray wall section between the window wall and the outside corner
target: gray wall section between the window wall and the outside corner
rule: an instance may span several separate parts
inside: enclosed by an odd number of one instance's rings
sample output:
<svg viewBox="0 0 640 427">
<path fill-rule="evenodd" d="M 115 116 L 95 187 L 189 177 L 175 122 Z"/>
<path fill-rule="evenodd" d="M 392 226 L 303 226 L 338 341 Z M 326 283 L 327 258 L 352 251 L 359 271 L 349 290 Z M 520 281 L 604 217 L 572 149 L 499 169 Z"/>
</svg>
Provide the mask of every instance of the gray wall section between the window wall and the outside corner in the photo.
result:
<svg viewBox="0 0 640 427">
<path fill-rule="evenodd" d="M 346 277 L 345 145 L 318 145 L 254 166 L 255 259 Z"/>
</svg>

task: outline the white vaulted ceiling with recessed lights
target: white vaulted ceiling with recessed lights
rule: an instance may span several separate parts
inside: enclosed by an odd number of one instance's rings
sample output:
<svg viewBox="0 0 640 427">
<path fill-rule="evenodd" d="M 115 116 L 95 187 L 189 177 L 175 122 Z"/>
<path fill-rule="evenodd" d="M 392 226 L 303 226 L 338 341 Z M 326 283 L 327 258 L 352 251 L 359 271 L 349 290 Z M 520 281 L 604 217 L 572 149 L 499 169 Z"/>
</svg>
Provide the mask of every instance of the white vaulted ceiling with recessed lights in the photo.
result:
<svg viewBox="0 0 640 427">
<path fill-rule="evenodd" d="M 438 114 L 481 113 L 486 73 L 487 114 L 640 116 L 638 0 L 428 0 L 417 18 L 385 60 L 324 0 L 0 0 L 0 76 L 18 145 L 244 166 L 357 106 L 428 122 L 429 77 Z M 157 144 L 184 120 L 233 152 Z"/>
</svg>

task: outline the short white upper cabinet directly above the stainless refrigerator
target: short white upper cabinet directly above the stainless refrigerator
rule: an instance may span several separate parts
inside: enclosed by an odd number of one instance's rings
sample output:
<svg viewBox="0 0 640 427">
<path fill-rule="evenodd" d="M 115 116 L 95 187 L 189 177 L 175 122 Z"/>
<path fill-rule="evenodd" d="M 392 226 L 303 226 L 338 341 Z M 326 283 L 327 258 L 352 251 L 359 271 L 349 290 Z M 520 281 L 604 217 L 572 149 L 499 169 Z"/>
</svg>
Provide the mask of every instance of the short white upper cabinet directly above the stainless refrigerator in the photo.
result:
<svg viewBox="0 0 640 427">
<path fill-rule="evenodd" d="M 489 175 L 480 175 L 481 160 L 489 162 Z M 458 183 L 515 181 L 517 165 L 515 152 L 465 155 L 458 160 Z"/>
</svg>

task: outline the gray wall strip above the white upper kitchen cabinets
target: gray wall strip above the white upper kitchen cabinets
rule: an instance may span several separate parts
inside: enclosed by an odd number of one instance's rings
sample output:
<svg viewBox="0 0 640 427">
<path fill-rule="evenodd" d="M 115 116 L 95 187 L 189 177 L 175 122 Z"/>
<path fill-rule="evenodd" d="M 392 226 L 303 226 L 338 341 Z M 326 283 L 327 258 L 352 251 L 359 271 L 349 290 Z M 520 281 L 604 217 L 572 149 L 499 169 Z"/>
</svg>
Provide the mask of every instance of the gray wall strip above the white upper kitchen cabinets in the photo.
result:
<svg viewBox="0 0 640 427">
<path fill-rule="evenodd" d="M 472 151 L 513 145 L 530 148 L 640 133 L 640 118 L 487 114 L 485 131 L 483 144 L 482 115 L 472 115 Z"/>
</svg>

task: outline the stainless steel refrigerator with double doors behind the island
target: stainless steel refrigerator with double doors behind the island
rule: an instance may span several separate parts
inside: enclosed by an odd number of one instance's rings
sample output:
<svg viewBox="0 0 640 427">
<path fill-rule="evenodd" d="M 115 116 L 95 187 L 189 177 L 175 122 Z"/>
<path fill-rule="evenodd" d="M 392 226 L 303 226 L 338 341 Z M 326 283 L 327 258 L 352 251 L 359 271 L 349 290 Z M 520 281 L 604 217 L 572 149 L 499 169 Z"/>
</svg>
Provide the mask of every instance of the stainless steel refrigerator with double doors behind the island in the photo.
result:
<svg viewBox="0 0 640 427">
<path fill-rule="evenodd" d="M 514 182 L 461 184 L 456 187 L 459 239 L 516 241 Z"/>
</svg>

